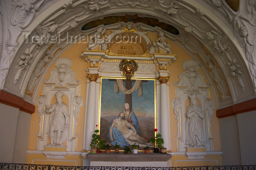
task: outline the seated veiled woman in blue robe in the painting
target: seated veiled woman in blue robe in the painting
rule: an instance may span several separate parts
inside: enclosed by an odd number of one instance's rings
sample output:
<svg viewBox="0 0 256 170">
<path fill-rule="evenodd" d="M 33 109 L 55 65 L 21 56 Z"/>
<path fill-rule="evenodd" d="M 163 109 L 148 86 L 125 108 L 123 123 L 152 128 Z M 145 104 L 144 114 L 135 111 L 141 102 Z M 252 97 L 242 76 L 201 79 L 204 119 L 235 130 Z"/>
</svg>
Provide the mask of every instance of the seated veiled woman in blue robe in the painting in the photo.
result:
<svg viewBox="0 0 256 170">
<path fill-rule="evenodd" d="M 136 130 L 136 133 L 139 135 L 140 134 L 140 130 L 139 130 L 139 122 L 138 119 L 135 115 L 135 113 L 133 111 L 131 111 L 130 109 L 130 105 L 128 103 L 124 104 L 124 120 L 127 120 Z M 118 117 L 116 117 L 116 119 L 118 119 Z M 109 126 L 109 130 L 110 130 L 111 126 Z M 122 132 L 120 132 L 117 129 L 117 125 L 115 125 L 112 129 L 112 139 L 110 137 L 110 133 L 108 134 L 108 138 L 110 139 L 110 141 L 112 141 L 110 143 L 110 145 L 115 145 L 116 143 L 120 145 L 120 147 L 124 147 L 124 146 L 129 146 L 130 144 L 127 142 L 127 140 L 125 140 Z"/>
</svg>

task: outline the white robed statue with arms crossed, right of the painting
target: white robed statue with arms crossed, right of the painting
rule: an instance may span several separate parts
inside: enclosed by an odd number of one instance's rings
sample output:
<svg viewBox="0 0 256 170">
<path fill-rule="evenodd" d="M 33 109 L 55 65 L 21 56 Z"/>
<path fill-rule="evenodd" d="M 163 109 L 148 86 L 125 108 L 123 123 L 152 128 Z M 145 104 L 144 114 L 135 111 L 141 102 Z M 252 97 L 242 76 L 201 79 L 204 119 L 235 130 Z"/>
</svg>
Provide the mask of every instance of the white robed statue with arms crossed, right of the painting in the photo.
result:
<svg viewBox="0 0 256 170">
<path fill-rule="evenodd" d="M 190 94 L 190 105 L 187 108 L 187 121 L 185 124 L 186 145 L 189 147 L 203 147 L 203 129 L 201 120 L 204 118 L 204 111 L 197 104 L 196 94 Z"/>
</svg>

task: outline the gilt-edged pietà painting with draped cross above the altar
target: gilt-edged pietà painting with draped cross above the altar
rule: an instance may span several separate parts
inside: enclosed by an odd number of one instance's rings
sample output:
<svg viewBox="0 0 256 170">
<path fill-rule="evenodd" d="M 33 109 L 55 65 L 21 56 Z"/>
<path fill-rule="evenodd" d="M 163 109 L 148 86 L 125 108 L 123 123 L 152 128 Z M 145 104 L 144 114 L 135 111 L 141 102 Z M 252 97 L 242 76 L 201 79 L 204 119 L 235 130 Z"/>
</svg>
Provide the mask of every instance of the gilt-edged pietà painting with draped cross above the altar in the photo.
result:
<svg viewBox="0 0 256 170">
<path fill-rule="evenodd" d="M 120 147 L 148 145 L 156 125 L 155 100 L 155 80 L 101 78 L 101 139 Z"/>
</svg>

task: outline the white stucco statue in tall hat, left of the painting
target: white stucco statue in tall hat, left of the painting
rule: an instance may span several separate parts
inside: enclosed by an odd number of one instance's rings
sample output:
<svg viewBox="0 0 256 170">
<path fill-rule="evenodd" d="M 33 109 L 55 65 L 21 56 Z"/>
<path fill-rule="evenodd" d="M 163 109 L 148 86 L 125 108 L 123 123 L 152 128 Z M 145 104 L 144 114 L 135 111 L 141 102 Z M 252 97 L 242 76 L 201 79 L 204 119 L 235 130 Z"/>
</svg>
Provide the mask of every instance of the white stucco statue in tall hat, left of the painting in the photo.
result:
<svg viewBox="0 0 256 170">
<path fill-rule="evenodd" d="M 45 107 L 46 113 L 51 113 L 48 129 L 50 144 L 48 146 L 64 146 L 63 142 L 68 137 L 69 113 L 67 105 L 62 101 L 63 94 L 60 91 L 56 92 L 57 103 Z"/>
</svg>

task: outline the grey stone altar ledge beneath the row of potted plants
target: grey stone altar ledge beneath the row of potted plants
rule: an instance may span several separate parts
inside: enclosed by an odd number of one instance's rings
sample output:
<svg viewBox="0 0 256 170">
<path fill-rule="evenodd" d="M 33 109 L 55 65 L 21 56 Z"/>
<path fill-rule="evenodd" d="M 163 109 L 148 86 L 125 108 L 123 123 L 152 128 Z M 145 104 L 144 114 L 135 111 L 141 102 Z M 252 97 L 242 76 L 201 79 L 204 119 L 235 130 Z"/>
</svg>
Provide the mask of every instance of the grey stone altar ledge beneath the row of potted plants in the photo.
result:
<svg viewBox="0 0 256 170">
<path fill-rule="evenodd" d="M 116 154 L 114 152 L 111 152 L 110 154 L 106 153 L 97 153 L 92 154 L 88 153 L 86 157 L 90 161 L 103 161 L 103 162 L 166 162 L 169 161 L 170 158 L 172 158 L 171 154 L 160 154 L 160 153 L 138 153 L 138 154 L 124 154 L 123 152 L 120 152 L 119 154 Z"/>
</svg>

